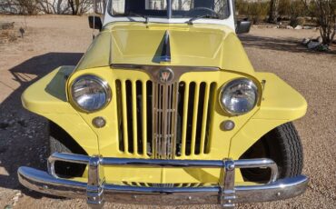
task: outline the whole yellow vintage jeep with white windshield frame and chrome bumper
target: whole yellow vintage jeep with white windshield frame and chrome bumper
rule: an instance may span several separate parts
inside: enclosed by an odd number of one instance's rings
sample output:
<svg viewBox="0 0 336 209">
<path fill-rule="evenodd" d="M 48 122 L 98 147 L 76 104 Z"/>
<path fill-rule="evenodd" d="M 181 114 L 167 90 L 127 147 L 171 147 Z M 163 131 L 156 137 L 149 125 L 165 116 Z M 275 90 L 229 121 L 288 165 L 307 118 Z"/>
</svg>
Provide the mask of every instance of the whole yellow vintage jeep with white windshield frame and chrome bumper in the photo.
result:
<svg viewBox="0 0 336 209">
<path fill-rule="evenodd" d="M 44 193 L 128 204 L 274 201 L 304 193 L 293 124 L 305 99 L 254 71 L 232 0 L 109 0 L 76 66 L 22 95 L 50 121 L 47 172 L 20 167 Z"/>
</svg>

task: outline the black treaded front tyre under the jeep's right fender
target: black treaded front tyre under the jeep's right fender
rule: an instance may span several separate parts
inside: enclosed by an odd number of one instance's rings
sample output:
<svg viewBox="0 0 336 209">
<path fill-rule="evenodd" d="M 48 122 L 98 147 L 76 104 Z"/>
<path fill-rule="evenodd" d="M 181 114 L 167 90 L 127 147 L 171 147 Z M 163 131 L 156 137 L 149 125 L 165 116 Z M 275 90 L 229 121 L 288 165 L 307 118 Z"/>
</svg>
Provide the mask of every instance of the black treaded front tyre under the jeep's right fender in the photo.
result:
<svg viewBox="0 0 336 209">
<path fill-rule="evenodd" d="M 301 174 L 303 152 L 301 139 L 292 123 L 282 124 L 262 136 L 256 144 L 242 154 L 241 159 L 270 158 L 279 169 L 278 178 L 293 177 Z M 245 181 L 268 182 L 271 169 L 242 169 Z"/>
</svg>

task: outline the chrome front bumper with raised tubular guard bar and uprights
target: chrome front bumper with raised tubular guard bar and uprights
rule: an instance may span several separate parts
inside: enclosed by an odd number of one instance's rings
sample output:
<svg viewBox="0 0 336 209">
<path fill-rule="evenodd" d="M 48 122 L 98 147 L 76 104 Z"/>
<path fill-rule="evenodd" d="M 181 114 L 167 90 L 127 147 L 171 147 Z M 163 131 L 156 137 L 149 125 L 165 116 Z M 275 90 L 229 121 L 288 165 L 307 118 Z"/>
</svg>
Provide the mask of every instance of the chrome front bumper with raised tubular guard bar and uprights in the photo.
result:
<svg viewBox="0 0 336 209">
<path fill-rule="evenodd" d="M 89 166 L 87 184 L 59 178 L 54 172 L 56 161 L 87 164 Z M 222 176 L 218 185 L 203 187 L 144 187 L 105 184 L 104 169 L 101 165 L 222 168 Z M 252 167 L 271 168 L 270 182 L 235 186 L 234 169 Z M 48 173 L 30 167 L 20 167 L 18 178 L 21 184 L 31 190 L 68 198 L 84 198 L 88 204 L 98 208 L 103 206 L 104 201 L 125 204 L 221 204 L 222 207 L 232 208 L 238 203 L 282 200 L 303 194 L 309 182 L 308 177 L 304 175 L 276 180 L 278 167 L 270 159 L 148 160 L 54 153 L 48 159 Z"/>
</svg>

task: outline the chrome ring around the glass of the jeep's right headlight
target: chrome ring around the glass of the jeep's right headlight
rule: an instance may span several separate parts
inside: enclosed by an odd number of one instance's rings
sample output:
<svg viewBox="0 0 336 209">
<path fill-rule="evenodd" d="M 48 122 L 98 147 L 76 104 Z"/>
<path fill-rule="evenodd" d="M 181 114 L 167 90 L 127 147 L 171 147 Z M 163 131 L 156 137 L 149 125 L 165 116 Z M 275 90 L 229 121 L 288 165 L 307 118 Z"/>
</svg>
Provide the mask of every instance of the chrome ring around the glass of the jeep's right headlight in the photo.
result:
<svg viewBox="0 0 336 209">
<path fill-rule="evenodd" d="M 247 111 L 243 111 L 243 112 L 234 112 L 234 111 L 230 110 L 227 106 L 225 106 L 225 104 L 223 104 L 223 102 L 222 102 L 222 96 L 225 93 L 225 91 L 226 91 L 227 88 L 232 87 L 234 85 L 239 85 L 239 84 L 250 85 L 251 88 L 252 88 L 252 90 L 255 93 L 255 99 L 254 99 L 254 103 L 252 104 L 252 108 L 251 109 L 249 109 Z M 225 83 L 224 85 L 222 85 L 221 92 L 219 94 L 219 98 L 218 99 L 219 99 L 219 104 L 222 107 L 222 110 L 224 112 L 226 112 L 227 114 L 236 116 L 236 115 L 242 115 L 242 114 L 248 114 L 248 113 L 250 113 L 255 108 L 255 106 L 259 103 L 259 97 L 260 97 L 260 91 L 259 91 L 258 85 L 256 85 L 249 78 L 241 77 L 241 78 L 235 78 L 235 79 L 233 79 L 233 80 Z"/>
</svg>

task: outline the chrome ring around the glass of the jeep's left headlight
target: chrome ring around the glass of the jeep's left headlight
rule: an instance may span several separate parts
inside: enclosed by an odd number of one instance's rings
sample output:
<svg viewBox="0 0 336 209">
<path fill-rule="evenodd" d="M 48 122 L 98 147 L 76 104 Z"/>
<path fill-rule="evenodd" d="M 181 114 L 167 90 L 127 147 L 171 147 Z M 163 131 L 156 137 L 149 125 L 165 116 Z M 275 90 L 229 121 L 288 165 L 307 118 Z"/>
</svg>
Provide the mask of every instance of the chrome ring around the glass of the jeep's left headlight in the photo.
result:
<svg viewBox="0 0 336 209">
<path fill-rule="evenodd" d="M 105 101 L 104 101 L 104 104 L 102 104 L 99 108 L 85 109 L 74 98 L 74 85 L 76 85 L 79 81 L 82 81 L 82 80 L 91 80 L 102 87 L 104 94 L 105 94 Z M 94 113 L 94 112 L 100 111 L 104 109 L 111 102 L 111 99 L 112 99 L 111 87 L 108 85 L 108 83 L 104 79 L 96 75 L 80 75 L 79 77 L 74 79 L 74 81 L 71 83 L 69 92 L 70 92 L 70 98 L 71 98 L 72 104 L 74 104 L 76 108 L 78 108 L 80 111 L 84 113 Z"/>
</svg>

